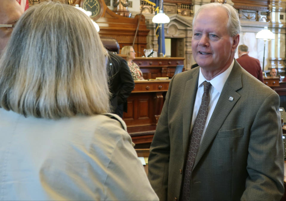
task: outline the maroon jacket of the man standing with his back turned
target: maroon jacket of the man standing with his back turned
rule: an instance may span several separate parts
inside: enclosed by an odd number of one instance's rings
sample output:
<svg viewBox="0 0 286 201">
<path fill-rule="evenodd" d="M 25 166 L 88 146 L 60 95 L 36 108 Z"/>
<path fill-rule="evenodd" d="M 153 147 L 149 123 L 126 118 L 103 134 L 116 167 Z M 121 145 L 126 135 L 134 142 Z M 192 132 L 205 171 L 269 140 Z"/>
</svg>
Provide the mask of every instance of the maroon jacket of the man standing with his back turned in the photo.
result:
<svg viewBox="0 0 286 201">
<path fill-rule="evenodd" d="M 260 62 L 258 59 L 255 59 L 248 54 L 244 54 L 236 61 L 243 67 L 248 73 L 259 79 L 263 82 L 262 70 L 260 66 Z"/>
</svg>

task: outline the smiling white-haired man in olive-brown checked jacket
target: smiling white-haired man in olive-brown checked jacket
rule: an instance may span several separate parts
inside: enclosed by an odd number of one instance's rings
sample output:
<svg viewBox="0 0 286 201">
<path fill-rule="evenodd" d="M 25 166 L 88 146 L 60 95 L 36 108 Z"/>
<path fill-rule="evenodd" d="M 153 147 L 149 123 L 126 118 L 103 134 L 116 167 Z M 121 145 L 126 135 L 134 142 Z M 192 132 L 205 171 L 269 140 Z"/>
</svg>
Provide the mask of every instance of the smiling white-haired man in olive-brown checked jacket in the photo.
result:
<svg viewBox="0 0 286 201">
<path fill-rule="evenodd" d="M 234 59 L 240 30 L 228 4 L 205 4 L 194 16 L 192 50 L 200 67 L 172 78 L 150 147 L 148 178 L 160 200 L 183 200 L 190 131 L 205 80 L 211 100 L 187 200 L 282 197 L 279 96 Z"/>
</svg>

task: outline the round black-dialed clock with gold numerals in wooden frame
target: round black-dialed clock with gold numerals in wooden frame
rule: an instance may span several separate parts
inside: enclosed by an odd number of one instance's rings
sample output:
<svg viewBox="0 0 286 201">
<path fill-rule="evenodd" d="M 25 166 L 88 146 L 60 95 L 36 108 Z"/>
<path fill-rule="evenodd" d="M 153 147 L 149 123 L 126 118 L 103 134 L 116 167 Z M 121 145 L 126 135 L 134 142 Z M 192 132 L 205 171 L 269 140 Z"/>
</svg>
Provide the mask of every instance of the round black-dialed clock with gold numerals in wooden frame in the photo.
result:
<svg viewBox="0 0 286 201">
<path fill-rule="evenodd" d="M 97 20 L 102 15 L 103 4 L 101 0 L 81 0 L 79 5 L 84 10 L 92 13 L 90 17 L 93 20 Z"/>
</svg>

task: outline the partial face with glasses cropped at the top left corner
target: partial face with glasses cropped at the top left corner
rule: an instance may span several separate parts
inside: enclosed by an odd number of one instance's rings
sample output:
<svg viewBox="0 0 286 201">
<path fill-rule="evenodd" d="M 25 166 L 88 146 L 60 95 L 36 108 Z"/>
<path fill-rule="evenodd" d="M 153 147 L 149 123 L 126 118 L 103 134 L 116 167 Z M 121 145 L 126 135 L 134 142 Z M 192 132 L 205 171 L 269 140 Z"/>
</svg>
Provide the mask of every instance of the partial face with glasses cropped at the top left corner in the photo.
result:
<svg viewBox="0 0 286 201">
<path fill-rule="evenodd" d="M 23 12 L 16 0 L 0 0 L 0 24 L 15 24 Z M 0 28 L 0 54 L 10 38 L 12 30 L 12 27 Z"/>
</svg>

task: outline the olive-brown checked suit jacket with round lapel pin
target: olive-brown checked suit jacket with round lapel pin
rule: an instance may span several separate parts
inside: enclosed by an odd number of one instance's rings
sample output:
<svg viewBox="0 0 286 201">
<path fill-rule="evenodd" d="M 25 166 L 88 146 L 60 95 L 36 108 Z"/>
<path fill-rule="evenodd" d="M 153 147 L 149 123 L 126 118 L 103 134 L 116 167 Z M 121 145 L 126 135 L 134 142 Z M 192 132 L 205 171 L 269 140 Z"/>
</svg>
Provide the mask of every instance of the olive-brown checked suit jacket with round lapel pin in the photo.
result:
<svg viewBox="0 0 286 201">
<path fill-rule="evenodd" d="M 166 94 L 148 160 L 160 200 L 180 197 L 198 77 L 199 67 L 175 75 Z M 279 96 L 235 61 L 195 159 L 191 200 L 280 200 L 283 172 Z"/>
</svg>

